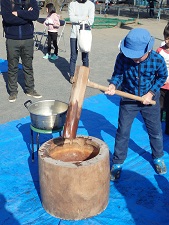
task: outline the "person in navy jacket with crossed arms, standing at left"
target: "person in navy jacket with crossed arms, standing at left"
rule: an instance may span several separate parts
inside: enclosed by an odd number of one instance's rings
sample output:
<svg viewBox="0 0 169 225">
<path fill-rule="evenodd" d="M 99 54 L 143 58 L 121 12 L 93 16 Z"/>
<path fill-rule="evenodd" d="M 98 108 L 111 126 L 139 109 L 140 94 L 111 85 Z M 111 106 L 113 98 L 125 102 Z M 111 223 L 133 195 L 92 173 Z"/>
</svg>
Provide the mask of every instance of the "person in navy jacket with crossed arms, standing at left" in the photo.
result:
<svg viewBox="0 0 169 225">
<path fill-rule="evenodd" d="M 34 25 L 39 17 L 36 0 L 2 0 L 1 13 L 6 37 L 8 60 L 9 102 L 15 102 L 18 94 L 18 63 L 22 60 L 25 93 L 34 98 L 41 98 L 34 89 L 33 52 Z"/>
</svg>

